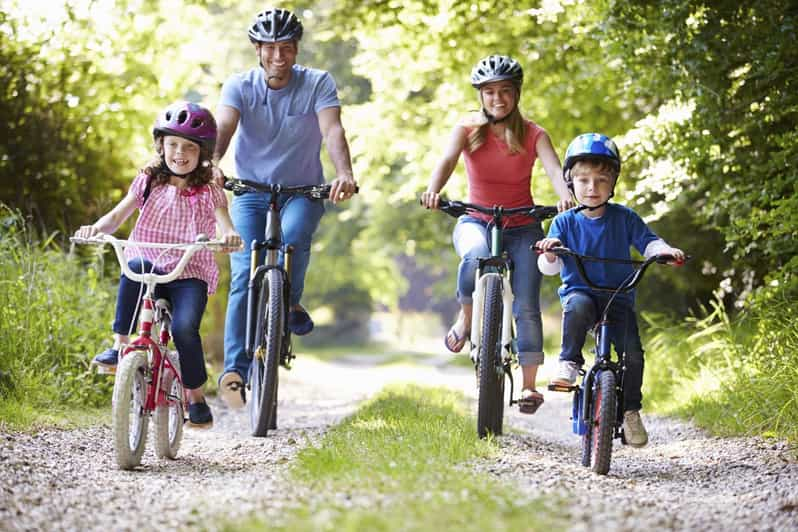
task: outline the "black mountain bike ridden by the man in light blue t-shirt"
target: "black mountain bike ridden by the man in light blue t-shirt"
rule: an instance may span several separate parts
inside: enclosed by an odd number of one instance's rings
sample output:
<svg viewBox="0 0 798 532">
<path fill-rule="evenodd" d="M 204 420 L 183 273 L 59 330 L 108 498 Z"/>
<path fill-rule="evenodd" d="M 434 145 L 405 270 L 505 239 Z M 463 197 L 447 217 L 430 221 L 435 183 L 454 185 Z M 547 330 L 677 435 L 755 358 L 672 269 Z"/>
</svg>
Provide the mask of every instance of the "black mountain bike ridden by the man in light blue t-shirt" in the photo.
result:
<svg viewBox="0 0 798 532">
<path fill-rule="evenodd" d="M 249 415 L 253 436 L 266 436 L 277 428 L 278 367 L 291 369 L 295 358 L 288 329 L 292 246 L 282 240 L 282 224 L 277 200 L 282 195 L 304 195 L 315 200 L 328 199 L 330 185 L 264 185 L 244 179 L 227 179 L 225 188 L 234 194 L 269 192 L 269 211 L 263 241 L 250 244 L 250 271 L 247 291 L 245 346 L 252 359 L 247 387 L 250 389 Z M 355 190 L 357 192 L 357 189 Z M 265 250 L 263 264 L 258 264 Z M 279 253 L 283 252 L 283 264 Z"/>
</svg>

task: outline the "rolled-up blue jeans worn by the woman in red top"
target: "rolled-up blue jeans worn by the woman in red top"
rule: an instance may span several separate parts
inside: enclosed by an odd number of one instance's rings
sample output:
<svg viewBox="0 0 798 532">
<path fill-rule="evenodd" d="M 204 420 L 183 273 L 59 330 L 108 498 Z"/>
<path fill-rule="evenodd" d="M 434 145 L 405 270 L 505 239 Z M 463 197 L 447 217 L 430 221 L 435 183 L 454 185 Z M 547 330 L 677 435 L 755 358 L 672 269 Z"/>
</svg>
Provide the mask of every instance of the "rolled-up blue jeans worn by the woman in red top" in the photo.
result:
<svg viewBox="0 0 798 532">
<path fill-rule="evenodd" d="M 504 231 L 504 249 L 513 261 L 513 316 L 518 332 L 518 361 L 522 366 L 543 364 L 543 324 L 540 319 L 540 279 L 537 257 L 529 246 L 543 238 L 540 224 L 512 227 Z M 476 283 L 477 259 L 490 256 L 487 223 L 471 216 L 457 220 L 452 235 L 460 256 L 457 300 L 470 305 Z"/>
</svg>

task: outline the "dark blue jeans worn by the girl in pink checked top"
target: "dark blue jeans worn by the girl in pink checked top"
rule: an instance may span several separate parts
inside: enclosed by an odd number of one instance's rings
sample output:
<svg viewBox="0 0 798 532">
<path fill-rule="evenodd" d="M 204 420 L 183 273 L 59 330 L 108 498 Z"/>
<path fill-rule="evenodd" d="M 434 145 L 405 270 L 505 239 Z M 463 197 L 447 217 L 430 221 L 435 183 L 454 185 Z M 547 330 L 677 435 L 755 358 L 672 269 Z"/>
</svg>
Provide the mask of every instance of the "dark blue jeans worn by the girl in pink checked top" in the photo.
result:
<svg viewBox="0 0 798 532">
<path fill-rule="evenodd" d="M 142 269 L 143 262 L 143 269 Z M 150 272 L 152 263 L 133 259 L 128 262 L 135 273 Z M 155 269 L 155 273 L 163 273 Z M 124 275 L 119 279 L 119 294 L 116 298 L 114 332 L 130 336 L 136 331 L 139 301 L 144 295 L 141 283 L 131 281 Z M 208 303 L 208 285 L 200 279 L 177 279 L 155 287 L 155 299 L 166 299 L 172 306 L 172 338 L 180 354 L 180 372 L 186 388 L 199 388 L 208 380 L 205 371 L 205 354 L 199 334 L 202 314 Z M 135 315 L 134 315 L 134 311 Z"/>
</svg>

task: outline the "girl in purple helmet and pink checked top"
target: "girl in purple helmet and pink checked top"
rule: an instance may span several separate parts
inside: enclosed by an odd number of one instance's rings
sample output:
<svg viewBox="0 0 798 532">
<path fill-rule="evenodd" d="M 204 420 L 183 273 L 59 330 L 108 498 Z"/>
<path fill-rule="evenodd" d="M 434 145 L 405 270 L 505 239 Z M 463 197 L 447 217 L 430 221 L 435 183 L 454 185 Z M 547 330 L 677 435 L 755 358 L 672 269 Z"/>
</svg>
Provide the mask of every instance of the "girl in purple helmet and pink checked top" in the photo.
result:
<svg viewBox="0 0 798 532">
<path fill-rule="evenodd" d="M 109 213 L 92 225 L 84 225 L 75 236 L 89 238 L 97 233 L 113 233 L 138 208 L 140 211 L 130 240 L 142 242 L 193 242 L 200 233 L 216 234 L 231 249 L 241 245 L 227 212 L 224 191 L 211 182 L 211 156 L 216 143 L 216 122 L 206 108 L 190 102 L 178 102 L 161 112 L 152 131 L 156 157 L 133 180 L 127 195 Z M 164 254 L 160 249 L 130 248 L 125 251 L 135 272 L 171 271 L 180 253 Z M 142 257 L 144 260 L 142 260 Z M 200 321 L 208 294 L 216 290 L 219 271 L 213 253 L 197 252 L 183 274 L 171 283 L 159 285 L 159 297 L 172 304 L 172 335 L 180 353 L 183 384 L 189 394 L 189 422 L 195 427 L 213 424 L 205 402 L 202 385 L 207 380 Z M 113 373 L 119 349 L 128 342 L 136 325 L 141 295 L 140 284 L 124 275 L 119 283 L 114 320 L 114 345 L 92 361 Z"/>
</svg>

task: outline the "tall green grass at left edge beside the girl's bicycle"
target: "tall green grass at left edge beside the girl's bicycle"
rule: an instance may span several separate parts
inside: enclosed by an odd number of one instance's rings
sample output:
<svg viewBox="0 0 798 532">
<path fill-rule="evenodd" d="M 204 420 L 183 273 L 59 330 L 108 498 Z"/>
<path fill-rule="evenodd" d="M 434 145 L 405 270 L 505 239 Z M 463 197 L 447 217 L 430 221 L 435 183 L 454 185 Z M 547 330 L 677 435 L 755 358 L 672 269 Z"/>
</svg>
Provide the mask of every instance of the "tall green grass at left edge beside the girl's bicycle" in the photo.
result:
<svg viewBox="0 0 798 532">
<path fill-rule="evenodd" d="M 65 260 L 52 235 L 37 238 L 19 213 L 0 213 L 0 399 L 45 410 L 101 404 L 112 381 L 89 362 L 108 338 L 99 325 L 115 294 L 96 265 Z"/>
</svg>

